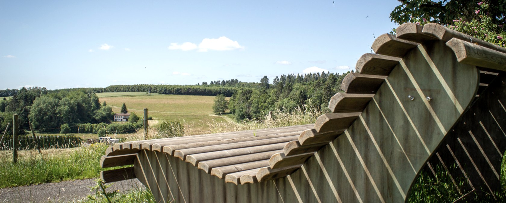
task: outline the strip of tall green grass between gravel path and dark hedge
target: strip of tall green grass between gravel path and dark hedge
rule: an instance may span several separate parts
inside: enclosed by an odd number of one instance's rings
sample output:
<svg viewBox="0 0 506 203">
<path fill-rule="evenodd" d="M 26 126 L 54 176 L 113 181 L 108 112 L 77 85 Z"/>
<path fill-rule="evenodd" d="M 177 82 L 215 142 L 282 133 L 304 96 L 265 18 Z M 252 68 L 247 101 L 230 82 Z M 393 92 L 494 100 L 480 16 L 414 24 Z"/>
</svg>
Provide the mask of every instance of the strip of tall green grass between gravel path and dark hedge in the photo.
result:
<svg viewBox="0 0 506 203">
<path fill-rule="evenodd" d="M 18 162 L 12 154 L 0 154 L 0 188 L 96 178 L 102 170 L 100 157 L 108 145 L 92 144 L 76 149 L 48 149 L 39 155 L 36 150 L 20 151 Z"/>
</svg>

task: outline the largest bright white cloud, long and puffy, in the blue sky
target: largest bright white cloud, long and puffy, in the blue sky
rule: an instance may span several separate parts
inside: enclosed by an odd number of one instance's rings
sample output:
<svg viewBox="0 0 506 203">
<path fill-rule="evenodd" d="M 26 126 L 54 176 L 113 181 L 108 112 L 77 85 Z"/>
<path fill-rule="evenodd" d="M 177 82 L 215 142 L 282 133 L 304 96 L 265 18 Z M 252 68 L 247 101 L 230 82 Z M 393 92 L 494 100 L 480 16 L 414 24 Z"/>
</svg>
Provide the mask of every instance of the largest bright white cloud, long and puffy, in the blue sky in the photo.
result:
<svg viewBox="0 0 506 203">
<path fill-rule="evenodd" d="M 207 52 L 209 50 L 215 51 L 230 51 L 230 50 L 243 50 L 244 47 L 239 45 L 237 41 L 233 41 L 232 39 L 227 38 L 226 36 L 222 36 L 219 38 L 205 38 L 202 39 L 202 42 L 197 46 L 194 43 L 183 43 L 178 45 L 178 43 L 171 43 L 168 46 L 170 50 L 182 50 L 182 51 L 190 51 L 198 49 L 199 52 Z"/>
</svg>

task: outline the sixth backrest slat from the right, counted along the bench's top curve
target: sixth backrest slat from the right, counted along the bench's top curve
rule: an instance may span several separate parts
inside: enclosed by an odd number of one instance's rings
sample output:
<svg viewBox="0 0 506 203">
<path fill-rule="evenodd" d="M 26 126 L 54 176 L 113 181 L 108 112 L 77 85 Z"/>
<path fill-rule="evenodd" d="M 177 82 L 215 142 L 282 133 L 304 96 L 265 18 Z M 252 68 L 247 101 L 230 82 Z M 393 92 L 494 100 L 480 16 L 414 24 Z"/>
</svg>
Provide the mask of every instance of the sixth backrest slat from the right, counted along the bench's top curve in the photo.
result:
<svg viewBox="0 0 506 203">
<path fill-rule="evenodd" d="M 343 79 L 341 89 L 350 94 L 374 94 L 387 76 L 348 73 Z"/>
</svg>

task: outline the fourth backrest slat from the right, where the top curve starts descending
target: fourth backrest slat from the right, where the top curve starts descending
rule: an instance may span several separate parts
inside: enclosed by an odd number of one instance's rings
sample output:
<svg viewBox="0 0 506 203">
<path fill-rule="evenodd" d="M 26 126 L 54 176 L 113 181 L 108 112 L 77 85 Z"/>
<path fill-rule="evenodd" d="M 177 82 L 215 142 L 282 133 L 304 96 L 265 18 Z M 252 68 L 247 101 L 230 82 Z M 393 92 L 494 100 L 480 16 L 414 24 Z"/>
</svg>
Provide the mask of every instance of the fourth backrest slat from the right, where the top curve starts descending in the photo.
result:
<svg viewBox="0 0 506 203">
<path fill-rule="evenodd" d="M 402 58 L 409 50 L 418 45 L 415 42 L 399 39 L 392 34 L 382 34 L 374 40 L 371 48 L 376 54 Z"/>
</svg>

